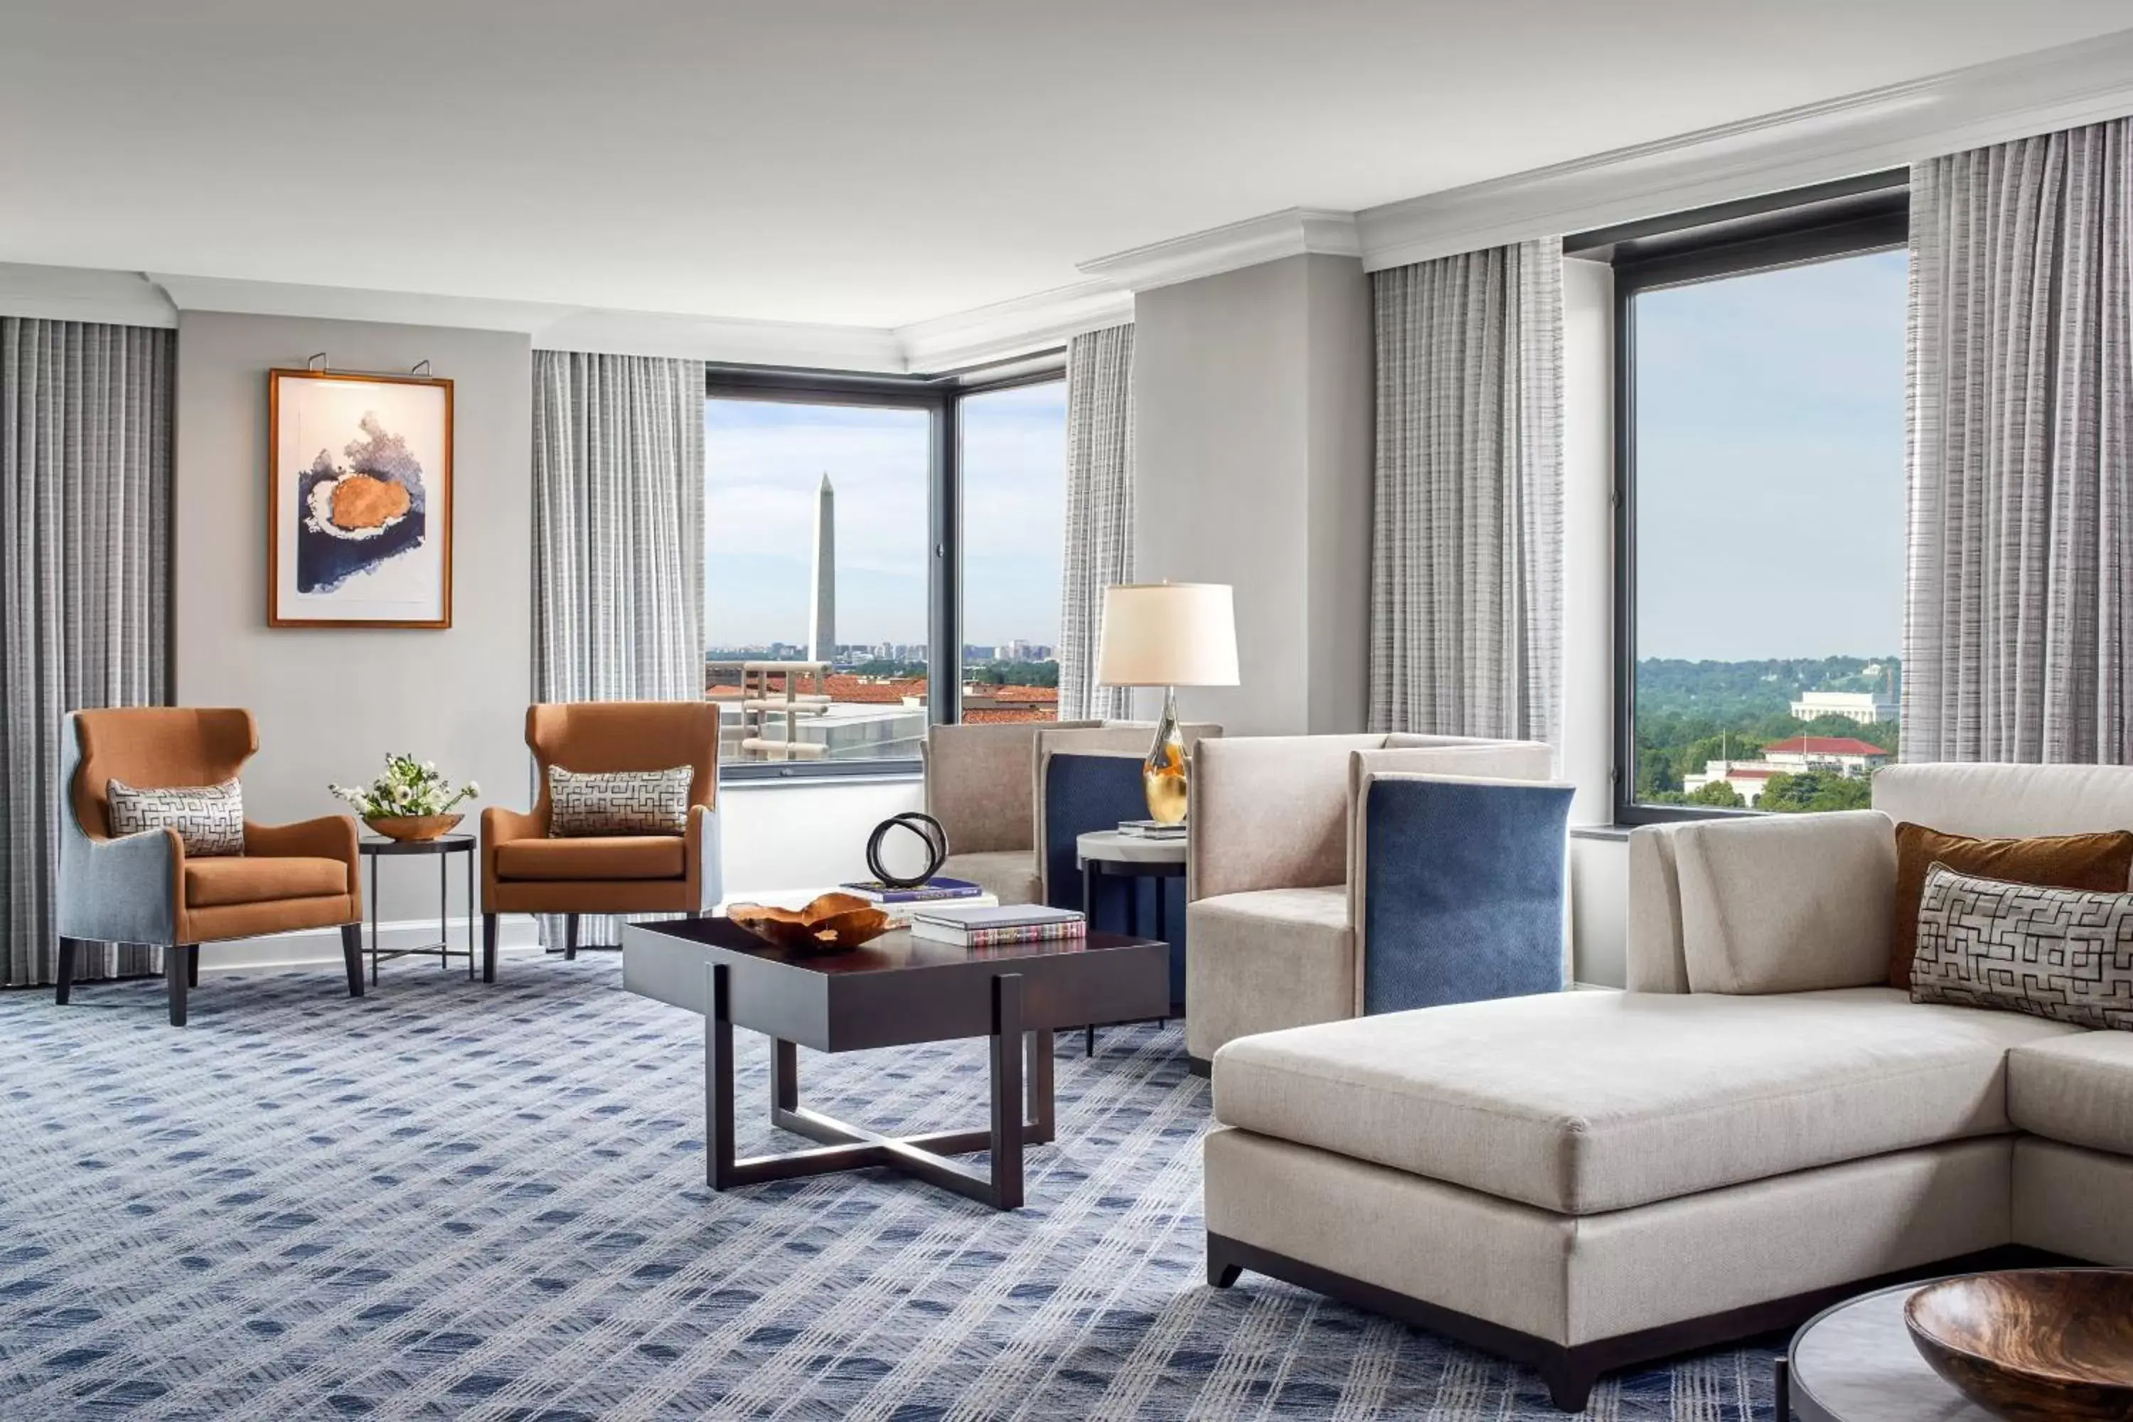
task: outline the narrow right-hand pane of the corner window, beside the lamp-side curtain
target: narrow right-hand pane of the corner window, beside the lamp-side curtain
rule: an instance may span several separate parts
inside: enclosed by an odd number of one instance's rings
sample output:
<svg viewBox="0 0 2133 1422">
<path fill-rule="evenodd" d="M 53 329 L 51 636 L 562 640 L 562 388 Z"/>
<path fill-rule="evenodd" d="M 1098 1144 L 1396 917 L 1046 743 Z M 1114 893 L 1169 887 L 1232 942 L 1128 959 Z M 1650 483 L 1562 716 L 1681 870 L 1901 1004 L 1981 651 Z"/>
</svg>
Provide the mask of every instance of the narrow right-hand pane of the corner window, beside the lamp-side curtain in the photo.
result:
<svg viewBox="0 0 2133 1422">
<path fill-rule="evenodd" d="M 1066 382 L 988 390 L 962 426 L 962 718 L 1058 721 Z"/>
</svg>

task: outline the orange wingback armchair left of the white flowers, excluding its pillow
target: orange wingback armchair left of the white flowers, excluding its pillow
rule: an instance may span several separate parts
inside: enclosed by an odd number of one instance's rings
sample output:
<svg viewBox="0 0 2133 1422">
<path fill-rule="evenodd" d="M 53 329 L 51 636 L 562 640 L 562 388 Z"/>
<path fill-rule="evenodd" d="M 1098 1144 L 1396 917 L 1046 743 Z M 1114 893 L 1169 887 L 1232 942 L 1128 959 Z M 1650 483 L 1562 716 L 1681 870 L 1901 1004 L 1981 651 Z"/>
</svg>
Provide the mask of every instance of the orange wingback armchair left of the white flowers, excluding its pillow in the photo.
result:
<svg viewBox="0 0 2133 1422">
<path fill-rule="evenodd" d="M 220 785 L 260 748 L 252 712 L 143 706 L 83 710 L 60 738 L 60 1002 L 83 942 L 164 949 L 171 1023 L 201 981 L 201 944 L 301 927 L 341 930 L 348 996 L 363 996 L 356 821 L 245 821 L 241 855 L 186 857 L 177 829 L 111 836 L 111 780 L 137 789 Z"/>
</svg>

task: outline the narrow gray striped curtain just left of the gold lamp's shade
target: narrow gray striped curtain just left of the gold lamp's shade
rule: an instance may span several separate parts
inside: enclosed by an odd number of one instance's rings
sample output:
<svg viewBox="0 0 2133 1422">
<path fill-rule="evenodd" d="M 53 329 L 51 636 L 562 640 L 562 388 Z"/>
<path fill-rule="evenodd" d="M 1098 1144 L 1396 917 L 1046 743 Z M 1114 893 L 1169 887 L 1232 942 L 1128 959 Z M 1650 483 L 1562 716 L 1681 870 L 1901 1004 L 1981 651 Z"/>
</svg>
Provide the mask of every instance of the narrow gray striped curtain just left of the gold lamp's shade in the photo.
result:
<svg viewBox="0 0 2133 1422">
<path fill-rule="evenodd" d="M 1103 591 L 1133 582 L 1133 326 L 1066 345 L 1066 571 L 1060 721 L 1124 718 L 1128 686 L 1096 684 Z"/>
</svg>

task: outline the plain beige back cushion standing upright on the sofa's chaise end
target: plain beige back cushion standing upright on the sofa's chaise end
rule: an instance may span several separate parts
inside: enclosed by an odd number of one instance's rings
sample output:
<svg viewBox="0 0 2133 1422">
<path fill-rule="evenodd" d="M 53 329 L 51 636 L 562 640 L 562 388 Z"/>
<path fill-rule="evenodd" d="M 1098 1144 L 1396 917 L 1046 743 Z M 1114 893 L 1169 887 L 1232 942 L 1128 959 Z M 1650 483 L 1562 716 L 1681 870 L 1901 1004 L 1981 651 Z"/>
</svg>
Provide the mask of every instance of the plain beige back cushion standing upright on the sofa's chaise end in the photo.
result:
<svg viewBox="0 0 2133 1422">
<path fill-rule="evenodd" d="M 1875 810 L 1685 825 L 1674 838 L 1691 993 L 1888 981 L 1896 827 Z M 1805 893 L 1802 885 L 1813 885 Z"/>
</svg>

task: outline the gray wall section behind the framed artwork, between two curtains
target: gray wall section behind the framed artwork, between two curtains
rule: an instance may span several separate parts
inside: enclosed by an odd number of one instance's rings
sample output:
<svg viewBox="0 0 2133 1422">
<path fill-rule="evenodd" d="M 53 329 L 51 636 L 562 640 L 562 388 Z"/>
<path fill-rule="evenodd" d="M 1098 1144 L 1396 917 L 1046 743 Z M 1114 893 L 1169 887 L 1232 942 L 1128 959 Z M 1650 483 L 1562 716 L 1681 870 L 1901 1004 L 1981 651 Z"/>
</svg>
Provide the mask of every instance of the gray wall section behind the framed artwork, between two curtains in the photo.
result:
<svg viewBox="0 0 2133 1422">
<path fill-rule="evenodd" d="M 267 627 L 267 371 L 324 350 L 335 369 L 452 379 L 452 627 Z M 533 362 L 525 335 L 186 311 L 177 330 L 173 655 L 181 706 L 247 706 L 260 753 L 245 812 L 343 808 L 388 750 L 525 806 L 531 680 Z M 478 812 L 478 806 L 476 806 Z M 471 823 L 467 825 L 471 827 Z M 463 915 L 454 861 L 452 915 Z M 386 863 L 384 917 L 435 915 L 429 861 Z"/>
</svg>

